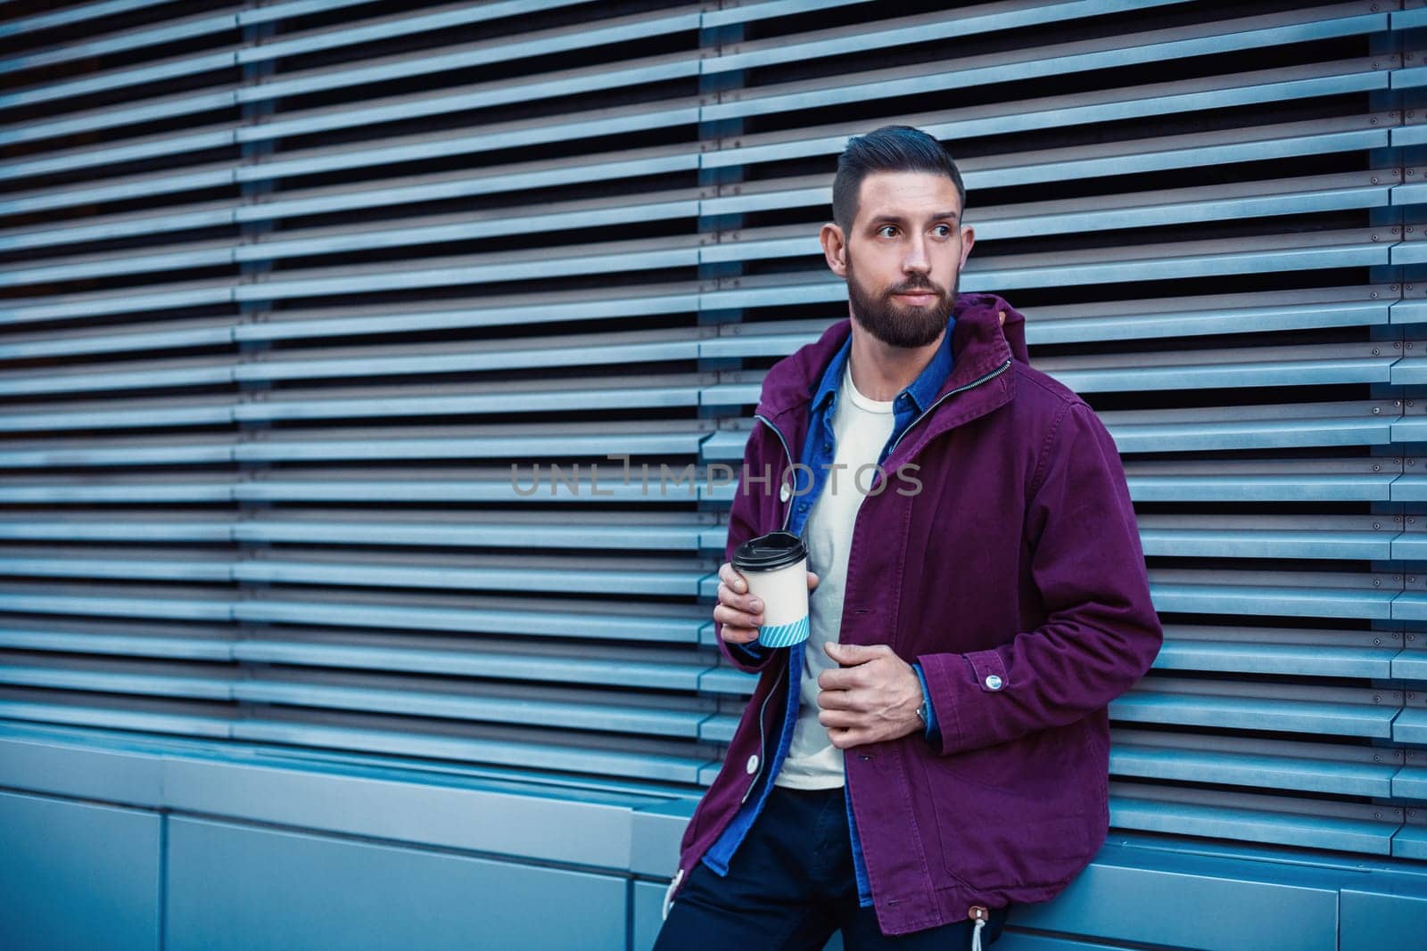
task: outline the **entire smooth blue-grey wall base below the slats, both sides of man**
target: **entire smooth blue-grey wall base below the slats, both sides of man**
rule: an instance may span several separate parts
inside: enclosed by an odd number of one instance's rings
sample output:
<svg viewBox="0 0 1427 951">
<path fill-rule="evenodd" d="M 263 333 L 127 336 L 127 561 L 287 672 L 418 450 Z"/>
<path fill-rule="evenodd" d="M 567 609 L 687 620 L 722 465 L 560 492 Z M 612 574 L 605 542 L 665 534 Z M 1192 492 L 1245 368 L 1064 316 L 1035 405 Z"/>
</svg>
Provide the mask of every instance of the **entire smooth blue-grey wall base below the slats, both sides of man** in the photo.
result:
<svg viewBox="0 0 1427 951">
<path fill-rule="evenodd" d="M 233 754 L 0 723 L 0 950 L 648 951 L 692 810 L 651 790 L 457 788 L 450 774 Z M 116 803 L 81 801 L 96 798 Z M 568 841 L 581 830 L 589 841 Z M 1427 874 L 1117 834 L 1009 924 L 997 950 L 1413 948 Z"/>
</svg>

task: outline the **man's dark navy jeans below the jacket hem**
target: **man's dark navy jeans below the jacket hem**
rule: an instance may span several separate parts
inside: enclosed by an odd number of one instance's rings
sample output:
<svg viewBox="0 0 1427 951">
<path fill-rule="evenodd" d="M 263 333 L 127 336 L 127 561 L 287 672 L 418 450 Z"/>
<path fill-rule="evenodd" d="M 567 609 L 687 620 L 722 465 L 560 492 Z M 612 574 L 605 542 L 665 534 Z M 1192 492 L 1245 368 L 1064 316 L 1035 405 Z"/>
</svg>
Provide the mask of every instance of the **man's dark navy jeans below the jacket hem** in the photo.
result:
<svg viewBox="0 0 1427 951">
<path fill-rule="evenodd" d="M 982 947 L 1000 937 L 1006 908 L 992 908 Z M 655 951 L 768 948 L 821 951 L 842 930 L 845 951 L 872 948 L 965 950 L 970 920 L 883 935 L 876 911 L 858 905 L 852 843 L 842 787 L 791 790 L 775 786 L 748 831 L 728 875 L 704 863 L 685 873 Z"/>
</svg>

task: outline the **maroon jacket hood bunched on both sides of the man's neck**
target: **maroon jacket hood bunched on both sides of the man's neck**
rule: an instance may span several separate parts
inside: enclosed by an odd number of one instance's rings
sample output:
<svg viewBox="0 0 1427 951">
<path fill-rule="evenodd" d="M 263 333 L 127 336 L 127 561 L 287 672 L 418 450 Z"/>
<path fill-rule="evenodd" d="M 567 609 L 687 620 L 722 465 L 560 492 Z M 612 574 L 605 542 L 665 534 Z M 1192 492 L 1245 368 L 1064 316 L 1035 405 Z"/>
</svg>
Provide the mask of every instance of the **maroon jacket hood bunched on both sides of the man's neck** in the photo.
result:
<svg viewBox="0 0 1427 951">
<path fill-rule="evenodd" d="M 1030 362 L 1026 318 L 999 294 L 959 294 L 952 317 L 956 319 L 952 335 L 955 362 L 938 395 L 996 369 L 1006 359 Z M 763 378 L 756 412 L 773 418 L 811 402 L 823 371 L 850 334 L 852 318 L 845 317 L 816 341 L 773 364 Z"/>
</svg>

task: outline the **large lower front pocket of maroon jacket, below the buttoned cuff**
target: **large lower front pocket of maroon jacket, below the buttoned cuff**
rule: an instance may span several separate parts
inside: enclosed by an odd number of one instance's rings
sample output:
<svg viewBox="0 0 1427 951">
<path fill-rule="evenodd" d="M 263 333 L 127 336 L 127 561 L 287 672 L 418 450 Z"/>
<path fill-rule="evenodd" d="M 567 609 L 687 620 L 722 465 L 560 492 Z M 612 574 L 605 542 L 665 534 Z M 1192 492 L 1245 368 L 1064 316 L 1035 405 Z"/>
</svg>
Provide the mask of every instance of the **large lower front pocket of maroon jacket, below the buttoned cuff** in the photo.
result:
<svg viewBox="0 0 1427 951">
<path fill-rule="evenodd" d="M 1104 770 L 1085 720 L 918 757 L 946 871 L 973 890 L 1066 881 L 1104 840 Z"/>
</svg>

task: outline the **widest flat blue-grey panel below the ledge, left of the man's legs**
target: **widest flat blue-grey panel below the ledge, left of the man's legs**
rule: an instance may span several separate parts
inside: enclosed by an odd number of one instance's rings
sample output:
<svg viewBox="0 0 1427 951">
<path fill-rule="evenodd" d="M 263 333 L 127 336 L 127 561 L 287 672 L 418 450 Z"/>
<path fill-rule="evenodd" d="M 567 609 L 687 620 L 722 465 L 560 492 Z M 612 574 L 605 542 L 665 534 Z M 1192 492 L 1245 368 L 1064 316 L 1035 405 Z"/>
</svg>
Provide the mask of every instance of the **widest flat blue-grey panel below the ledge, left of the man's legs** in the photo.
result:
<svg viewBox="0 0 1427 951">
<path fill-rule="evenodd" d="M 170 820 L 168 951 L 624 951 L 622 878 Z"/>
</svg>

